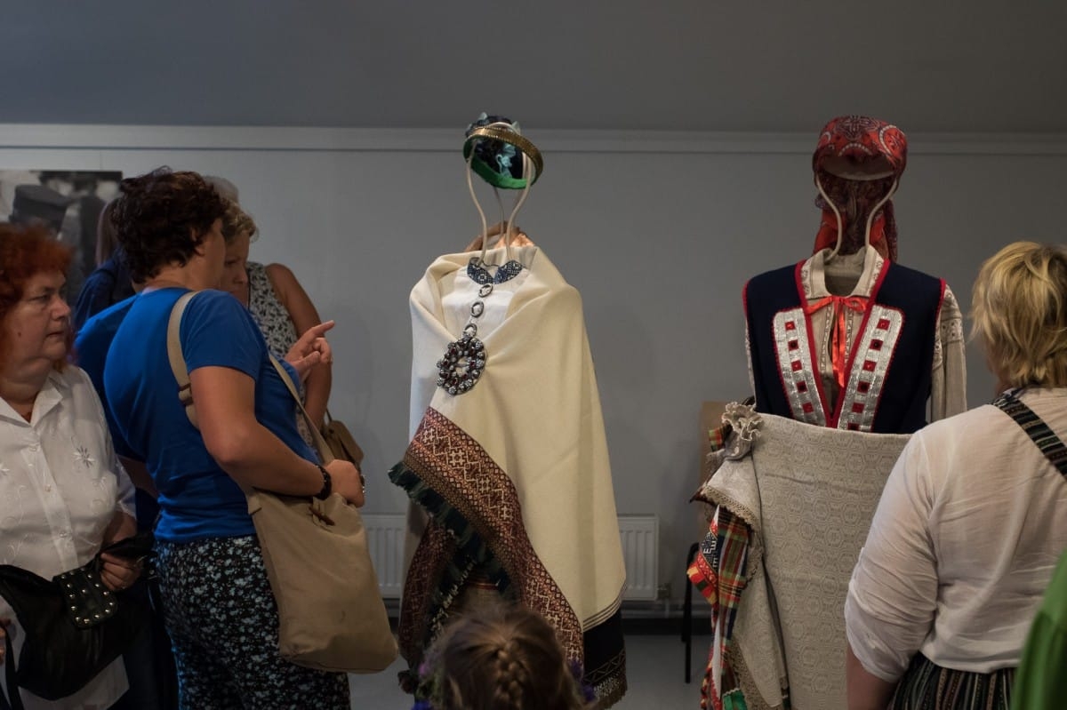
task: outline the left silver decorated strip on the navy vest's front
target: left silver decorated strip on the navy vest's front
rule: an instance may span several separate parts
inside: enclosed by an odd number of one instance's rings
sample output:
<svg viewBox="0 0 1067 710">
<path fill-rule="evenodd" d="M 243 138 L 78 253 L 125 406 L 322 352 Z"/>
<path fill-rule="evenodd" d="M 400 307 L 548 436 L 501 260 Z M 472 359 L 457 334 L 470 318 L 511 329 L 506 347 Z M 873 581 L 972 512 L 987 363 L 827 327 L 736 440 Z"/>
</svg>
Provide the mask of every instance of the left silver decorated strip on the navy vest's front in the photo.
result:
<svg viewBox="0 0 1067 710">
<path fill-rule="evenodd" d="M 778 369 L 793 418 L 826 426 L 826 412 L 815 382 L 803 308 L 790 308 L 775 313 L 774 333 Z"/>
</svg>

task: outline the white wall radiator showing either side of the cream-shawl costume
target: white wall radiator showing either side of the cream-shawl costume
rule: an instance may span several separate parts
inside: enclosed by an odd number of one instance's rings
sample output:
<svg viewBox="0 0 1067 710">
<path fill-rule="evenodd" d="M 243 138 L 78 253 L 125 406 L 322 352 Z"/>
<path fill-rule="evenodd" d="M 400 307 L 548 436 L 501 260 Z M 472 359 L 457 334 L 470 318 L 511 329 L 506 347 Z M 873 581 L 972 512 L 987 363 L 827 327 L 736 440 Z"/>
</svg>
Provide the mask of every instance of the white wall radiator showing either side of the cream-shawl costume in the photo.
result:
<svg viewBox="0 0 1067 710">
<path fill-rule="evenodd" d="M 404 516 L 367 514 L 363 525 L 382 597 L 399 599 L 403 588 Z M 626 564 L 622 598 L 655 600 L 659 586 L 659 520 L 654 515 L 620 515 L 619 535 Z"/>
</svg>

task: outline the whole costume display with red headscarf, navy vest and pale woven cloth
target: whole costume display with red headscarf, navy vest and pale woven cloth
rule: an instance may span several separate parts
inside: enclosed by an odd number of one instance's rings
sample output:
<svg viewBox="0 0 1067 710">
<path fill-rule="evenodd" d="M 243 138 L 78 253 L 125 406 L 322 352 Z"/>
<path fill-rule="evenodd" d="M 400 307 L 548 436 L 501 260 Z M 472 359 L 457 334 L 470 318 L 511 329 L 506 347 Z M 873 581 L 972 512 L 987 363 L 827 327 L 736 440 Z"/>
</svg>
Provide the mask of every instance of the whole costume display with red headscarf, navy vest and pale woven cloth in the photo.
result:
<svg viewBox="0 0 1067 710">
<path fill-rule="evenodd" d="M 906 162 L 907 141 L 895 126 L 864 116 L 827 124 L 812 157 L 822 209 L 813 255 L 760 274 L 745 287 L 755 406 L 754 412 L 737 409 L 732 429 L 745 422 L 748 439 L 742 446 L 734 433 L 718 453 L 719 468 L 696 497 L 714 509 L 711 531 L 689 569 L 713 606 L 715 640 L 702 689 L 704 707 L 779 708 L 787 697 L 796 707 L 843 704 L 843 674 L 834 669 L 823 678 L 803 665 L 819 653 L 791 658 L 791 651 L 811 641 L 798 629 L 803 619 L 816 618 L 817 610 L 832 619 L 827 629 L 841 626 L 848 572 L 833 561 L 859 552 L 880 486 L 906 441 L 906 436 L 874 435 L 908 435 L 967 408 L 956 298 L 942 279 L 896 262 L 891 197 Z M 822 431 L 806 433 L 797 423 Z M 767 440 L 759 442 L 760 436 Z M 805 457 L 811 462 L 789 453 L 801 445 L 814 446 Z M 761 472 L 774 481 L 790 480 L 792 487 L 776 490 L 771 479 L 758 484 Z M 847 511 L 839 510 L 843 501 Z M 803 534 L 819 530 L 810 522 L 813 509 L 834 520 L 833 539 L 813 542 Z M 801 518 L 792 528 L 799 534 L 794 549 L 783 554 L 785 546 L 769 536 L 791 511 Z M 767 516 L 775 525 L 765 525 Z M 775 547 L 777 558 L 770 554 Z M 829 549 L 833 554 L 821 556 Z M 806 578 L 819 581 L 805 587 Z M 769 586 L 775 587 L 770 593 Z M 776 675 L 773 664 L 758 667 L 770 663 L 766 646 L 749 652 L 755 631 L 767 629 L 754 631 L 748 622 L 752 607 L 769 594 L 777 596 L 784 626 L 792 600 L 783 597 L 797 595 L 798 588 L 812 603 L 799 623 L 791 622 L 789 633 L 777 631 L 784 645 Z M 742 602 L 746 598 L 748 609 Z M 828 655 L 840 657 L 843 633 L 829 632 L 835 638 L 824 643 L 818 626 L 812 636 Z M 781 687 L 774 688 L 779 678 Z"/>
</svg>

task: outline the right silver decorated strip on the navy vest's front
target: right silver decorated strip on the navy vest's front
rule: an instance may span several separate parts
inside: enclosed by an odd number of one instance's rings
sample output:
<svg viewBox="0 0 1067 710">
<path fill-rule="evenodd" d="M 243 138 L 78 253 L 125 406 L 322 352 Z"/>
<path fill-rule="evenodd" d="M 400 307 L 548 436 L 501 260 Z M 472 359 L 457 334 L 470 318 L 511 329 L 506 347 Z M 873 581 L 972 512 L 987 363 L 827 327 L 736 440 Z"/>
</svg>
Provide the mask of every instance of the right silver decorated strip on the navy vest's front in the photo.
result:
<svg viewBox="0 0 1067 710">
<path fill-rule="evenodd" d="M 886 371 L 893 359 L 903 326 L 904 313 L 899 310 L 878 304 L 871 308 L 871 317 L 848 373 L 838 429 L 871 431 L 886 384 Z"/>
</svg>

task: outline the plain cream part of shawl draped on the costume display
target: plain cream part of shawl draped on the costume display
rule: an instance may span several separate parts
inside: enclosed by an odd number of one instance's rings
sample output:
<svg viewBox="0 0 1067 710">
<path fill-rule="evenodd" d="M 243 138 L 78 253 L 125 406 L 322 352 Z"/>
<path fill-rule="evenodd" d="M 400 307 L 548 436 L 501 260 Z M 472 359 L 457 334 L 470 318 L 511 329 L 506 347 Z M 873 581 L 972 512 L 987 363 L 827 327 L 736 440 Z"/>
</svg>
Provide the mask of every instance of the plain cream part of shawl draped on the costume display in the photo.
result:
<svg viewBox="0 0 1067 710">
<path fill-rule="evenodd" d="M 442 419 L 476 442 L 514 485 L 532 551 L 585 631 L 618 610 L 625 571 L 582 298 L 537 246 L 512 255 L 528 273 L 503 321 L 479 333 L 487 364 L 466 393 L 448 394 L 435 381 L 436 361 L 460 335 L 444 325 L 443 300 L 466 278 L 457 272 L 472 254 L 440 257 L 412 290 L 409 456 L 437 436 L 427 430 Z M 493 249 L 489 260 L 503 256 Z M 490 294 L 487 307 L 501 295 Z M 449 453 L 460 473 L 461 448 Z M 413 516 L 416 535 L 424 520 Z"/>
</svg>

